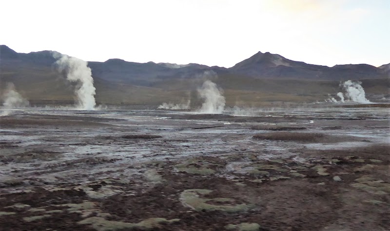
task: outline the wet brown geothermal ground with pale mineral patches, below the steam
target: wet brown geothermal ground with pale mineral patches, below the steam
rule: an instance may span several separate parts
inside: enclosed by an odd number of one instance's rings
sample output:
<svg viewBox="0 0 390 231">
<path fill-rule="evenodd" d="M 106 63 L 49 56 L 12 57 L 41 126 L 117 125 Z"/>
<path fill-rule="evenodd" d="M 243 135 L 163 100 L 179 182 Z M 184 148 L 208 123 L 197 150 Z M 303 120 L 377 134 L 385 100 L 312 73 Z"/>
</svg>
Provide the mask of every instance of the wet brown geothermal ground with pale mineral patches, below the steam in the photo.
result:
<svg viewBox="0 0 390 231">
<path fill-rule="evenodd" d="M 25 109 L 0 230 L 390 230 L 389 108 Z"/>
</svg>

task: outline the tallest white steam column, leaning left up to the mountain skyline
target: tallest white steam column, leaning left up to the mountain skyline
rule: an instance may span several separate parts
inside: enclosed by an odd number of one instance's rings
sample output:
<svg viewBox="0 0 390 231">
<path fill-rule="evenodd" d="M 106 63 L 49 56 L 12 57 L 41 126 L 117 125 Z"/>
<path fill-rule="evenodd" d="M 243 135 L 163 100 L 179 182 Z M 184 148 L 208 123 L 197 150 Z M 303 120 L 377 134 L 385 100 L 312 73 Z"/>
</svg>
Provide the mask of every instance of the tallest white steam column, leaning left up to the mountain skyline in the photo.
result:
<svg viewBox="0 0 390 231">
<path fill-rule="evenodd" d="M 76 96 L 78 99 L 78 108 L 81 110 L 94 110 L 95 90 L 94 79 L 92 78 L 91 68 L 87 62 L 75 57 L 69 57 L 59 53 L 53 53 L 59 71 L 66 72 L 66 78 L 71 82 L 77 82 Z"/>
</svg>

